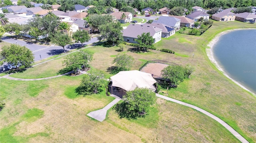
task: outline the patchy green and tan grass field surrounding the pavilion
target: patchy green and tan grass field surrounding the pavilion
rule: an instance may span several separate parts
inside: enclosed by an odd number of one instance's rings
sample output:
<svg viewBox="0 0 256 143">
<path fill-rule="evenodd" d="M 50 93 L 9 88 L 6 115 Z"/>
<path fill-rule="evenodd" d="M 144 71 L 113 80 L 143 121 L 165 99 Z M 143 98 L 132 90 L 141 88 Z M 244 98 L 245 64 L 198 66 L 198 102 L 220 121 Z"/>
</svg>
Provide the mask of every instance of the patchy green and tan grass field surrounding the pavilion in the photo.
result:
<svg viewBox="0 0 256 143">
<path fill-rule="evenodd" d="M 150 50 L 147 53 L 119 52 L 119 47 L 89 47 L 94 53 L 92 69 L 107 72 L 119 53 L 135 59 L 132 70 L 146 61 L 160 59 L 196 67 L 189 79 L 176 89 L 161 94 L 196 105 L 218 116 L 251 143 L 256 142 L 256 98 L 246 92 L 210 62 L 205 49 L 218 33 L 236 28 L 256 27 L 243 22 L 214 22 L 201 36 L 176 33 L 162 38 L 157 49 L 167 48 L 175 54 Z M 194 54 L 194 58 L 192 55 Z M 12 74 L 19 78 L 55 75 L 54 65 L 62 58 Z M 48 67 L 48 68 L 46 68 Z M 37 69 L 37 70 L 35 70 Z M 49 71 L 47 71 L 49 70 Z M 38 72 L 40 71 L 40 72 Z M 108 77 L 111 74 L 107 74 Z M 49 80 L 16 81 L 0 79 L 0 94 L 6 97 L 6 107 L 0 112 L 1 142 L 217 142 L 239 143 L 222 125 L 191 108 L 157 99 L 145 118 L 120 119 L 109 110 L 105 121 L 88 118 L 86 114 L 103 108 L 114 98 L 104 93 L 77 96 L 75 88 L 80 76 L 61 76 Z"/>
</svg>

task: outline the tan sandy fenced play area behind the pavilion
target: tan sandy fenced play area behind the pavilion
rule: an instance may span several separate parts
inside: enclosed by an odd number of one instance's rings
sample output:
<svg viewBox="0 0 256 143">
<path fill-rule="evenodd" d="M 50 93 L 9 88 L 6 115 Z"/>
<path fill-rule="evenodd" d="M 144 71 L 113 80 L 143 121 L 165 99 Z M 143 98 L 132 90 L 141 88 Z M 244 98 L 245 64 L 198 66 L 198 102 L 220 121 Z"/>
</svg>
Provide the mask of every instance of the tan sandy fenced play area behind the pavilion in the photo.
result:
<svg viewBox="0 0 256 143">
<path fill-rule="evenodd" d="M 168 65 L 162 63 L 149 63 L 141 71 L 153 74 L 154 76 L 160 76 L 162 69 L 164 69 L 167 66 Z"/>
</svg>

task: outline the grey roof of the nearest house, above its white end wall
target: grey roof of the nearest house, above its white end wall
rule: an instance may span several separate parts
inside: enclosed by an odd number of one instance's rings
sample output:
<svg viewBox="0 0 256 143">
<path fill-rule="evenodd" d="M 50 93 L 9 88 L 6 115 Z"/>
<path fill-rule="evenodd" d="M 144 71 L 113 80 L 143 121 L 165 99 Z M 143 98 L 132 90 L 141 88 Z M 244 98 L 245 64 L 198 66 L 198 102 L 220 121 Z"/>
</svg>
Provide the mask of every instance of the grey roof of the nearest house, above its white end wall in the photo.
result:
<svg viewBox="0 0 256 143">
<path fill-rule="evenodd" d="M 140 24 L 130 24 L 126 29 L 124 29 L 123 36 L 137 38 L 138 35 L 142 33 L 150 33 L 150 36 L 154 36 L 154 34 L 158 31 L 162 31 L 162 29 L 155 26 L 148 25 L 140 25 Z"/>
</svg>

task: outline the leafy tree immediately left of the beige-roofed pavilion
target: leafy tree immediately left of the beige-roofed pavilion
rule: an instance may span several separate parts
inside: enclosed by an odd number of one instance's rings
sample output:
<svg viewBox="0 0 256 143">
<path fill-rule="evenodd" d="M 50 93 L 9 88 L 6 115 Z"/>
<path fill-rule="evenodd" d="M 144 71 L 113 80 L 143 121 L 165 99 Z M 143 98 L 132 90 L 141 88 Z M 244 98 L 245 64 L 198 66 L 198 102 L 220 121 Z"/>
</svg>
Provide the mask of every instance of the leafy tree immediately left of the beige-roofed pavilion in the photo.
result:
<svg viewBox="0 0 256 143">
<path fill-rule="evenodd" d="M 83 96 L 97 94 L 107 85 L 108 81 L 104 78 L 104 72 L 93 70 L 84 75 L 75 92 Z"/>
</svg>

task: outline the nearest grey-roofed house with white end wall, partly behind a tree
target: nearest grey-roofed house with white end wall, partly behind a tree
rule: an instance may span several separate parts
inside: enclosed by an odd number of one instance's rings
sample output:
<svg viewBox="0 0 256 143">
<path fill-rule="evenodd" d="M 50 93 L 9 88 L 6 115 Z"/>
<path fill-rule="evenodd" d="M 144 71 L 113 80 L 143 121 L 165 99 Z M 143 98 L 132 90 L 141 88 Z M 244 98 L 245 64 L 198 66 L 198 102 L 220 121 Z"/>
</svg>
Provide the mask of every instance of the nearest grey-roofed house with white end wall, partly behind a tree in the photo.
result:
<svg viewBox="0 0 256 143">
<path fill-rule="evenodd" d="M 154 43 L 160 41 L 162 36 L 162 29 L 149 25 L 130 24 L 122 32 L 124 41 L 129 43 L 137 43 L 135 39 L 137 39 L 138 35 L 141 35 L 142 33 L 149 32 L 150 36 L 154 38 Z"/>
</svg>

